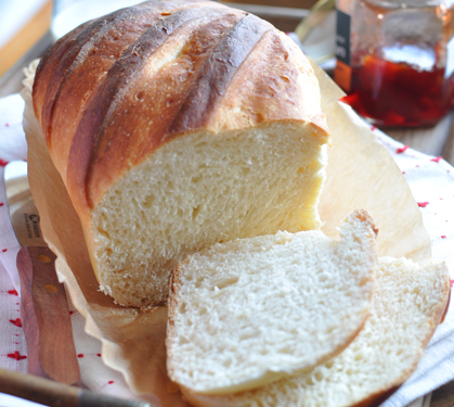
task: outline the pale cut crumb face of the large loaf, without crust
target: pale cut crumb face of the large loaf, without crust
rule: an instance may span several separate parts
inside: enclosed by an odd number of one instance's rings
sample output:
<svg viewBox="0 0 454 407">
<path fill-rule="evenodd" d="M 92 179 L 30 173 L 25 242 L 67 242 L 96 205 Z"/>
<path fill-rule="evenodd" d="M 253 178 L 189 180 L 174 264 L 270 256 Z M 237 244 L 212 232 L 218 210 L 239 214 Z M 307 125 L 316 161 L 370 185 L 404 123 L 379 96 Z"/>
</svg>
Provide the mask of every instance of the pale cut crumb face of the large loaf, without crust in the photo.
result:
<svg viewBox="0 0 454 407">
<path fill-rule="evenodd" d="M 238 237 L 319 228 L 325 162 L 302 132 L 289 123 L 199 131 L 131 169 L 92 214 L 101 289 L 121 304 L 161 301 L 170 269 L 190 253 Z"/>
</svg>

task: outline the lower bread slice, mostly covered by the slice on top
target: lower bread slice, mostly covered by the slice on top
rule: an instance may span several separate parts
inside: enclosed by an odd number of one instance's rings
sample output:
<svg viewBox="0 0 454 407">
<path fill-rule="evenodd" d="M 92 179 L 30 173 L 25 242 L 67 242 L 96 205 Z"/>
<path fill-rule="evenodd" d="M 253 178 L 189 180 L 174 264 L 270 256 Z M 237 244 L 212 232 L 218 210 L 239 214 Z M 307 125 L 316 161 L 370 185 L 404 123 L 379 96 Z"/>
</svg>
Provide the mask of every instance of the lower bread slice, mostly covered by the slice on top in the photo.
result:
<svg viewBox="0 0 454 407">
<path fill-rule="evenodd" d="M 340 355 L 313 370 L 261 389 L 203 396 L 183 389 L 197 407 L 378 406 L 416 369 L 450 294 L 444 264 L 419 267 L 380 258 L 372 314 Z"/>
</svg>

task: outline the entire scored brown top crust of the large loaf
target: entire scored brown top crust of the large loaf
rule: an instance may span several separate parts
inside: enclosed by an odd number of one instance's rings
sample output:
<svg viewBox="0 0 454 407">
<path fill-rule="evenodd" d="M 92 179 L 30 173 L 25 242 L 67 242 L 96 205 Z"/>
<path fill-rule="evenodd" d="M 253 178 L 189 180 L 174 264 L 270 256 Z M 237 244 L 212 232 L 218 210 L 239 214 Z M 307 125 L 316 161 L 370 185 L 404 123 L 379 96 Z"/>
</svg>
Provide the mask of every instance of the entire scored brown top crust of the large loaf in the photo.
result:
<svg viewBox="0 0 454 407">
<path fill-rule="evenodd" d="M 41 71 L 35 110 L 86 224 L 125 171 L 189 131 L 290 119 L 328 138 L 320 109 L 308 112 L 320 96 L 296 46 L 269 23 L 215 2 L 119 10 L 69 34 Z"/>
</svg>

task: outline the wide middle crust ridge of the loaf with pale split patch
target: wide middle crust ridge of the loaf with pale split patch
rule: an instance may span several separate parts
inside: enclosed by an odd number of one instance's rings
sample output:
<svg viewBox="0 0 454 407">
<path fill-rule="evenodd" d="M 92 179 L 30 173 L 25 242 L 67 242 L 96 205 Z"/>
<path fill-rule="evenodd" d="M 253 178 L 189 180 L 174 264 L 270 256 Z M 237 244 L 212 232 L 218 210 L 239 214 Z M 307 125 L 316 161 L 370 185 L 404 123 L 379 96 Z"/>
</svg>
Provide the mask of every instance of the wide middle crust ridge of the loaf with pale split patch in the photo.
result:
<svg viewBox="0 0 454 407">
<path fill-rule="evenodd" d="M 68 161 L 68 187 L 81 192 L 86 189 L 83 195 L 76 196 L 81 206 L 92 207 L 111 179 L 119 178 L 169 141 L 165 136 L 216 44 L 212 39 L 244 15 L 228 10 L 177 11 L 147 30 L 109 71 L 105 85 L 83 114 Z M 200 26 L 204 29 L 195 30 Z M 181 56 L 150 80 L 153 65 L 181 44 Z M 155 53 L 158 55 L 153 58 Z"/>
</svg>

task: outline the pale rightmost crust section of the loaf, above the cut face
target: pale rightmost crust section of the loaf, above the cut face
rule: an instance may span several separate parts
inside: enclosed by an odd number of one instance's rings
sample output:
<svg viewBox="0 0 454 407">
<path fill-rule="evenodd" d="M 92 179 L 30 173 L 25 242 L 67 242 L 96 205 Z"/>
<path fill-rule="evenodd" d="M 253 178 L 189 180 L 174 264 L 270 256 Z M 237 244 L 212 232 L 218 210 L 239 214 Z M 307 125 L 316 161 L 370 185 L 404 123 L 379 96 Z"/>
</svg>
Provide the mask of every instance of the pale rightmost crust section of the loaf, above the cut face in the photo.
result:
<svg viewBox="0 0 454 407">
<path fill-rule="evenodd" d="M 213 131 L 283 119 L 320 125 L 324 116 L 319 113 L 314 117 L 307 112 L 309 94 L 304 94 L 301 79 L 310 81 L 312 68 L 300 56 L 283 33 L 265 29 L 232 76 L 224 94 L 218 98 L 217 109 L 205 125 Z M 321 133 L 325 133 L 324 127 Z"/>
</svg>

